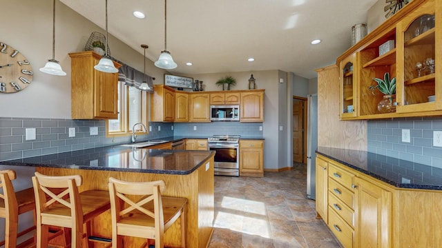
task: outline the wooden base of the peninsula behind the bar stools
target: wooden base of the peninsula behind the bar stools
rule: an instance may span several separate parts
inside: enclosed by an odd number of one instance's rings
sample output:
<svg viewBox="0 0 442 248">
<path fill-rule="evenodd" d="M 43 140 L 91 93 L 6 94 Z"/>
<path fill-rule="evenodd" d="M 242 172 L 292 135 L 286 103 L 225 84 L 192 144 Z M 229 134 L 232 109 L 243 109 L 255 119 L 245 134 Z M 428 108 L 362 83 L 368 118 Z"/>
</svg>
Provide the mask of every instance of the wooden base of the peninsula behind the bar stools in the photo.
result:
<svg viewBox="0 0 442 248">
<path fill-rule="evenodd" d="M 83 177 L 83 185 L 79 191 L 88 189 L 108 190 L 108 178 L 133 182 L 164 180 L 166 190 L 164 196 L 179 196 L 187 198 L 186 211 L 186 247 L 206 247 L 210 241 L 213 230 L 213 156 L 209 158 L 209 168 L 200 166 L 188 175 L 149 174 L 141 172 L 113 172 L 93 169 L 61 169 L 53 167 L 37 167 L 37 172 L 51 176 L 78 174 Z M 171 229 L 166 231 L 165 244 L 180 247 L 180 220 Z M 93 223 L 93 235 L 106 238 L 111 237 L 111 213 L 106 211 Z M 141 247 L 145 240 L 141 238 L 124 238 L 124 247 Z M 96 247 L 104 247 L 97 243 Z"/>
</svg>

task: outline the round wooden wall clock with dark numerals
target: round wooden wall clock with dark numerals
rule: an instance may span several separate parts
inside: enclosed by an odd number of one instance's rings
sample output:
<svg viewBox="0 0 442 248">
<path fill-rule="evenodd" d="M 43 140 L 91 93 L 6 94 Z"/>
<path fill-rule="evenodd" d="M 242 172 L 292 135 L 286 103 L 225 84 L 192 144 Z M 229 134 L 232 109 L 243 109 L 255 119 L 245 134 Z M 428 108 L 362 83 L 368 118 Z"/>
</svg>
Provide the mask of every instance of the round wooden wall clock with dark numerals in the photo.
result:
<svg viewBox="0 0 442 248">
<path fill-rule="evenodd" d="M 19 50 L 0 42 L 0 93 L 15 93 L 28 87 L 34 72 Z"/>
</svg>

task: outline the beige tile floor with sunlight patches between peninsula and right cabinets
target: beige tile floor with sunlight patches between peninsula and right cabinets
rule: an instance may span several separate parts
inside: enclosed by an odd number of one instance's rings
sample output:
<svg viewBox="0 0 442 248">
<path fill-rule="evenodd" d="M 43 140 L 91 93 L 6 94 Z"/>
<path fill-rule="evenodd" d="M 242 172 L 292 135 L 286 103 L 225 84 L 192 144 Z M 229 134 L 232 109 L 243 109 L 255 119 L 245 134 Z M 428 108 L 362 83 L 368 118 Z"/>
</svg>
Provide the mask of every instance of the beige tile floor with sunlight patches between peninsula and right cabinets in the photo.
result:
<svg viewBox="0 0 442 248">
<path fill-rule="evenodd" d="M 307 199 L 307 169 L 294 165 L 263 178 L 215 176 L 215 221 L 209 248 L 339 248 L 315 202 Z"/>
</svg>

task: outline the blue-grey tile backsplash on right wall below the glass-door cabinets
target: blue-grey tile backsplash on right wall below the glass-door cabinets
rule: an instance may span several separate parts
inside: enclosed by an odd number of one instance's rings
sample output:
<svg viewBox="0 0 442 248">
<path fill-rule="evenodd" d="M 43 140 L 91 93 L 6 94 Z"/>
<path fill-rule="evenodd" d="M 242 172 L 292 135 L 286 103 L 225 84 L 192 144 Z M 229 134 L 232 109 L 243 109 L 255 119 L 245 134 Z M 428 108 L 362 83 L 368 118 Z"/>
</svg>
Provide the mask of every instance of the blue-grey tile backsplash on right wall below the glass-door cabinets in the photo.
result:
<svg viewBox="0 0 442 248">
<path fill-rule="evenodd" d="M 410 142 L 402 141 L 402 130 L 410 130 Z M 367 131 L 368 152 L 442 168 L 442 147 L 433 145 L 440 117 L 372 120 Z"/>
</svg>

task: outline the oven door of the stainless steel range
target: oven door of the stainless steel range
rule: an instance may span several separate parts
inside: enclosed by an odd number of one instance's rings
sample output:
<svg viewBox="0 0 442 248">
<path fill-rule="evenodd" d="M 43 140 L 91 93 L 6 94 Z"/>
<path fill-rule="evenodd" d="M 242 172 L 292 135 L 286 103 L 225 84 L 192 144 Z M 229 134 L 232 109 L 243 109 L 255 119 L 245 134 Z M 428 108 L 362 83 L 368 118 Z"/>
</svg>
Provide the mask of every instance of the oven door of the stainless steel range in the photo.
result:
<svg viewBox="0 0 442 248">
<path fill-rule="evenodd" d="M 240 169 L 238 160 L 238 144 L 210 144 L 209 149 L 215 151 L 215 168 Z"/>
</svg>

